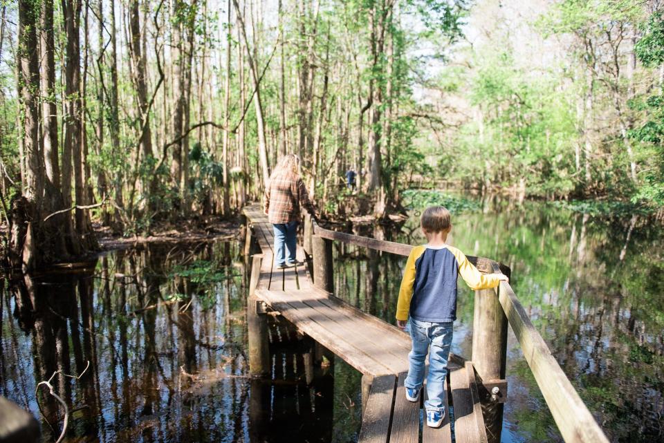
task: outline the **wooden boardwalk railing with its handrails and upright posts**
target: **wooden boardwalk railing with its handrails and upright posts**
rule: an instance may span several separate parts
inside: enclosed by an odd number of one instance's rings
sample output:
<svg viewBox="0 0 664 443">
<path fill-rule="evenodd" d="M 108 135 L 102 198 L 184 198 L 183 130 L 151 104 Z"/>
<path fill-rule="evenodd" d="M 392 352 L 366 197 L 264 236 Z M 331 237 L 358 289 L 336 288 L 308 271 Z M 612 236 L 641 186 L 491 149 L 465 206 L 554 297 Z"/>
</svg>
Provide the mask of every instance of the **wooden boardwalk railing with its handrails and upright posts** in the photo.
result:
<svg viewBox="0 0 664 443">
<path fill-rule="evenodd" d="M 313 256 L 314 284 L 331 290 L 331 242 L 367 247 L 407 256 L 412 246 L 391 241 L 356 236 L 320 227 L 305 220 L 304 249 Z M 482 257 L 468 256 L 480 272 L 510 275 L 506 265 Z M 321 281 L 322 280 L 322 281 Z M 542 336 L 533 326 L 526 310 L 509 283 L 498 288 L 475 292 L 472 363 L 484 386 L 498 385 L 505 379 L 507 324 L 512 328 L 524 358 L 542 391 L 553 420 L 567 443 L 608 443 L 602 428 L 555 361 Z M 495 391 L 494 391 L 495 392 Z"/>
</svg>

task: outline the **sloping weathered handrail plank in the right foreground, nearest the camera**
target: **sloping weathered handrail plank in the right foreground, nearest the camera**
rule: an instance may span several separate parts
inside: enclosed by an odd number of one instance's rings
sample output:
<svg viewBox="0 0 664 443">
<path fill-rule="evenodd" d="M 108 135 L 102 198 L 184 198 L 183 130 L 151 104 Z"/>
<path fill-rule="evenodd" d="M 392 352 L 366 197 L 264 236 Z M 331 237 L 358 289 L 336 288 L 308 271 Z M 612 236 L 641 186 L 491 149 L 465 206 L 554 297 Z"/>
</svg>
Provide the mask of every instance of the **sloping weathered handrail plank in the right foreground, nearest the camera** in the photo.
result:
<svg viewBox="0 0 664 443">
<path fill-rule="evenodd" d="M 608 443 L 604 431 L 551 355 L 510 285 L 501 282 L 497 294 L 562 438 L 567 443 Z"/>
</svg>

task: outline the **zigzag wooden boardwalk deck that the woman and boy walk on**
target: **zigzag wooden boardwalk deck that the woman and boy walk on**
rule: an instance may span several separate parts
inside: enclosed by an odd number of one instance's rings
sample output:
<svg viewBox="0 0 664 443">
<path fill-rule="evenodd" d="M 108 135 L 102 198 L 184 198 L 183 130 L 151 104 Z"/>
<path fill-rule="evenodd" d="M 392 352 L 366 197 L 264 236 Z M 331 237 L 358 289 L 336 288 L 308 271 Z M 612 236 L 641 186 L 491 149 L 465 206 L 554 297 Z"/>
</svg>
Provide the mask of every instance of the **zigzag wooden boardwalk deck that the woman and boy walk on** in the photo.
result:
<svg viewBox="0 0 664 443">
<path fill-rule="evenodd" d="M 360 442 L 417 443 L 420 435 L 423 442 L 452 442 L 453 427 L 459 443 L 488 441 L 470 361 L 450 356 L 447 388 L 452 408 L 448 408 L 441 428 L 423 427 L 421 403 L 408 402 L 403 386 L 410 350 L 408 335 L 317 288 L 307 265 L 278 270 L 273 259 L 272 225 L 258 206 L 247 207 L 244 213 L 261 249 L 253 262 L 259 265 L 259 272 L 252 271 L 252 294 L 262 304 L 257 312 L 279 312 L 300 332 L 359 370 L 364 375 L 363 384 L 368 380 Z M 298 247 L 297 256 L 306 263 L 302 247 Z M 454 426 L 450 411 L 456 420 Z"/>
</svg>

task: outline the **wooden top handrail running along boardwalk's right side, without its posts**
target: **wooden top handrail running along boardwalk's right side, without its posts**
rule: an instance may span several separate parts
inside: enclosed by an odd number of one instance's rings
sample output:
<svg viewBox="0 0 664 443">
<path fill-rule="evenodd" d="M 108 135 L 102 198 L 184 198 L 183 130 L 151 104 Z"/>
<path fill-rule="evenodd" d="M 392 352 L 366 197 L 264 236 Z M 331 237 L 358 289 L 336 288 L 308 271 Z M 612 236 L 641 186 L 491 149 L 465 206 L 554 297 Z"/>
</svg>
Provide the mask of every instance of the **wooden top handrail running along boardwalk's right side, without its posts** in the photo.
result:
<svg viewBox="0 0 664 443">
<path fill-rule="evenodd" d="M 311 220 L 311 223 L 314 234 L 333 241 L 402 256 L 409 255 L 413 248 L 411 245 L 403 243 L 331 231 L 320 227 L 314 220 Z M 468 261 L 481 272 L 502 272 L 507 276 L 511 274 L 508 266 L 490 258 L 467 257 Z M 501 282 L 499 287 L 495 288 L 495 292 L 563 440 L 566 443 L 609 443 L 604 431 L 597 424 L 588 407 L 551 354 L 546 342 L 533 326 L 509 283 Z"/>
</svg>

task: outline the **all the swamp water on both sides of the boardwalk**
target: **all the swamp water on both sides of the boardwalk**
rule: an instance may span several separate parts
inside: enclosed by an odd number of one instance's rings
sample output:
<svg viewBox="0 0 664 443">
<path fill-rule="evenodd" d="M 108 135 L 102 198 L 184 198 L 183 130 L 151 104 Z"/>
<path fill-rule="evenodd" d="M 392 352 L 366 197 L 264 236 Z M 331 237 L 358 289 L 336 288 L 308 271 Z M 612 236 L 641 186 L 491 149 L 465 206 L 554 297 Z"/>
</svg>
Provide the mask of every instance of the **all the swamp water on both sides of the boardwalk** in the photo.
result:
<svg viewBox="0 0 664 443">
<path fill-rule="evenodd" d="M 465 209 L 449 243 L 510 265 L 515 293 L 609 440 L 664 441 L 664 229 L 536 202 Z M 398 240 L 421 243 L 415 227 Z M 91 361 L 78 380 L 53 377 L 69 442 L 356 441 L 360 374 L 331 357 L 312 375 L 311 343 L 287 324 L 270 323 L 271 379 L 246 377 L 241 250 L 153 245 L 86 272 L 2 283 L 0 395 L 39 417 L 37 383 Z M 337 295 L 391 321 L 405 258 L 338 244 L 335 257 Z M 472 292 L 459 288 L 452 350 L 470 357 Z M 507 375 L 501 441 L 561 441 L 511 331 Z M 44 388 L 39 399 L 53 441 L 62 410 Z"/>
</svg>

